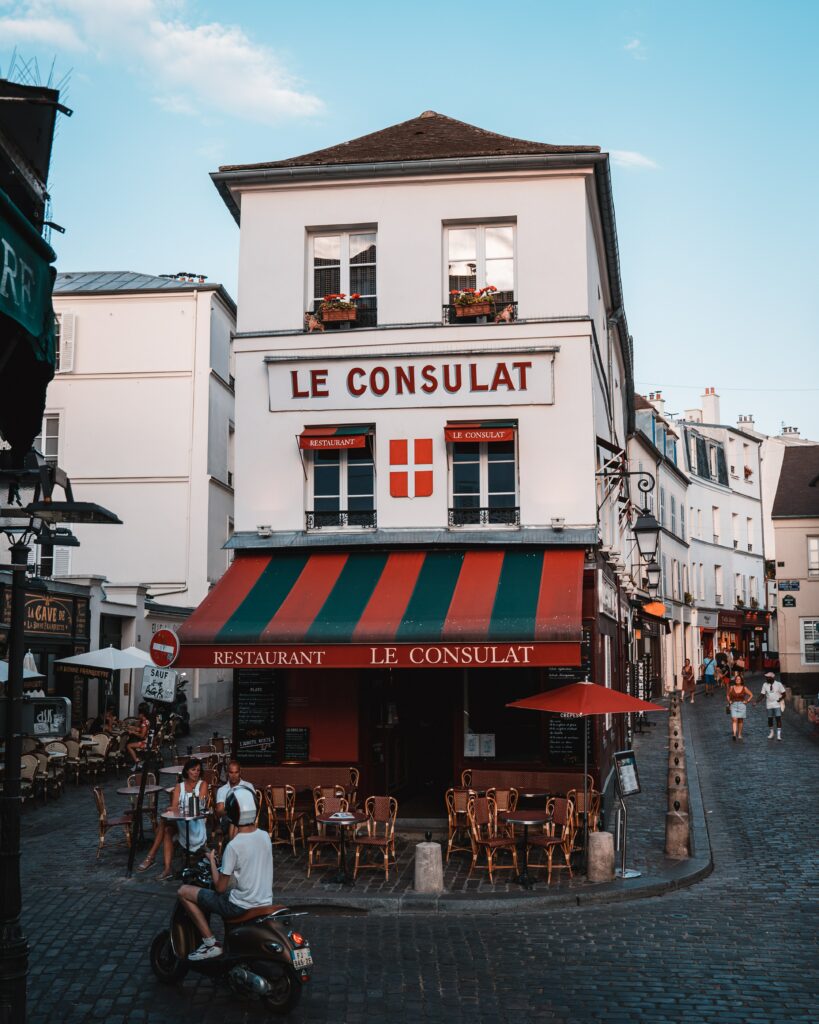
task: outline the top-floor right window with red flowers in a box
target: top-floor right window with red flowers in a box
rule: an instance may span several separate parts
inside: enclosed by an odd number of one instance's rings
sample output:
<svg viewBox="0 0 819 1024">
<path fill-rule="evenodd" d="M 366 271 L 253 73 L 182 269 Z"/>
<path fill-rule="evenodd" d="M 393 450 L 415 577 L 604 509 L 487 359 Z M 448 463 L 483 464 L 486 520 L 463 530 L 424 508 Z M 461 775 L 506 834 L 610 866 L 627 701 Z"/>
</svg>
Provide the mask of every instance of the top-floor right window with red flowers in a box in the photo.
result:
<svg viewBox="0 0 819 1024">
<path fill-rule="evenodd" d="M 504 310 L 505 318 L 516 317 L 514 223 L 451 224 L 444 228 L 444 252 L 449 323 L 478 315 L 494 319 Z M 489 311 L 478 313 L 486 304 Z M 459 316 L 459 309 L 465 315 Z"/>
</svg>

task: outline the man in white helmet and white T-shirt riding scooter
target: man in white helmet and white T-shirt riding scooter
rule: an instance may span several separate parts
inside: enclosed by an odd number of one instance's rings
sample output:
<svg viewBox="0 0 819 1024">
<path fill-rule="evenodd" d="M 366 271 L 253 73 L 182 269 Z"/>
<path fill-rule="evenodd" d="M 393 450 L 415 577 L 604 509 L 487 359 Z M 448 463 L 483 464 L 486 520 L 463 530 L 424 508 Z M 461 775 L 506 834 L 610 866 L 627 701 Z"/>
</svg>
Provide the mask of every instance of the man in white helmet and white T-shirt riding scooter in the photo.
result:
<svg viewBox="0 0 819 1024">
<path fill-rule="evenodd" d="M 221 866 L 216 866 L 216 853 L 208 851 L 213 889 L 181 886 L 179 899 L 199 929 L 203 942 L 188 959 L 210 959 L 220 956 L 221 945 L 216 941 L 206 914 L 218 913 L 228 920 L 246 910 L 268 906 L 273 900 L 273 851 L 267 833 L 256 827 L 256 801 L 249 790 L 238 787 L 225 800 L 225 814 L 236 833 L 222 854 Z"/>
</svg>

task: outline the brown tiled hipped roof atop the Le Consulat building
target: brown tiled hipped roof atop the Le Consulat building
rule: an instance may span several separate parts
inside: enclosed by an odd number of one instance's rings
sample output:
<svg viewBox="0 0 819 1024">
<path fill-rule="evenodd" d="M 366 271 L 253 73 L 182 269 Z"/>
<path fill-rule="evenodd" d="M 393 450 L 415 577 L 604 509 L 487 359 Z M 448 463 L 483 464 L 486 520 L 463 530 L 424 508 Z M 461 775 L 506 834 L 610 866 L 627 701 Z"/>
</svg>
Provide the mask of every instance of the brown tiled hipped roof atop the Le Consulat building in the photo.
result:
<svg viewBox="0 0 819 1024">
<path fill-rule="evenodd" d="M 425 111 L 410 121 L 361 135 L 349 142 L 306 153 L 301 157 L 270 163 L 228 165 L 219 169 L 231 171 L 266 167 L 315 167 L 324 164 L 371 164 L 543 153 L 600 153 L 600 146 L 529 142 L 523 138 L 498 135 L 435 111 Z"/>
</svg>

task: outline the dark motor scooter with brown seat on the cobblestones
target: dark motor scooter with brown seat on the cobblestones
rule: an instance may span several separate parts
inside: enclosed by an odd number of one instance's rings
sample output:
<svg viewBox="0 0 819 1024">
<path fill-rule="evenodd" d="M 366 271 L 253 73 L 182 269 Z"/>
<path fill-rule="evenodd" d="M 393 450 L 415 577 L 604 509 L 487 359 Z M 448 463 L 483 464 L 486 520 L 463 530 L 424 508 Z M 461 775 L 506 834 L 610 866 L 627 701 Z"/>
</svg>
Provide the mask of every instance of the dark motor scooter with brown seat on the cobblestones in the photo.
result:
<svg viewBox="0 0 819 1024">
<path fill-rule="evenodd" d="M 182 872 L 188 885 L 211 888 L 210 864 L 201 861 Z M 240 995 L 258 996 L 273 1014 L 289 1014 L 299 1002 L 310 979 L 313 957 L 307 939 L 292 927 L 302 916 L 286 906 L 256 907 L 225 922 L 221 956 L 189 961 L 202 936 L 177 899 L 170 928 L 150 944 L 150 969 L 167 985 L 178 984 L 188 971 L 223 981 Z"/>
</svg>

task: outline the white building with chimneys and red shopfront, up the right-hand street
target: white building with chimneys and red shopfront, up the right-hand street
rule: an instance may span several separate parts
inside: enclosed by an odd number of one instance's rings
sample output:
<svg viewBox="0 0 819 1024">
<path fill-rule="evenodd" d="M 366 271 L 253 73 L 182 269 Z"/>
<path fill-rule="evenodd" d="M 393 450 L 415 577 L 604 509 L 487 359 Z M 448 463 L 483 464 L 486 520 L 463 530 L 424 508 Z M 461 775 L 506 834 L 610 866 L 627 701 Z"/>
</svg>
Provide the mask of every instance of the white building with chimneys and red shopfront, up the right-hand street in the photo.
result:
<svg viewBox="0 0 819 1024">
<path fill-rule="evenodd" d="M 688 488 L 689 580 L 694 643 L 703 652 L 736 649 L 761 664 L 767 610 L 760 440 L 720 423 L 720 396 L 705 388 L 682 430 Z"/>
</svg>

